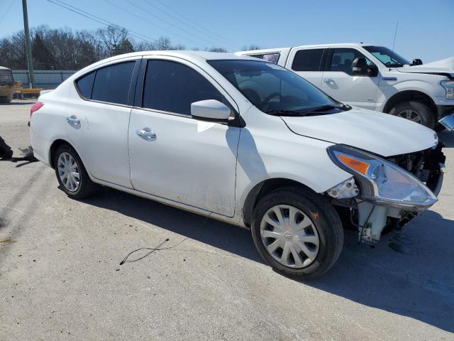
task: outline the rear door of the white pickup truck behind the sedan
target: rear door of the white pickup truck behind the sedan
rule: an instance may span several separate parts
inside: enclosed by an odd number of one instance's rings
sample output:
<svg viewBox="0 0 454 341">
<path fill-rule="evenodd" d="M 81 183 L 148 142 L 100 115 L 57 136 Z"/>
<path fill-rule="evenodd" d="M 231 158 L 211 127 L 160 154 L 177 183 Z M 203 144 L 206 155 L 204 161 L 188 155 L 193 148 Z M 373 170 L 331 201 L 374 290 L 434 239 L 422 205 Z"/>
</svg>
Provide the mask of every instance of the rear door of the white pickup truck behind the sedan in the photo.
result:
<svg viewBox="0 0 454 341">
<path fill-rule="evenodd" d="M 321 89 L 327 48 L 295 48 L 290 51 L 287 69 Z"/>
</svg>

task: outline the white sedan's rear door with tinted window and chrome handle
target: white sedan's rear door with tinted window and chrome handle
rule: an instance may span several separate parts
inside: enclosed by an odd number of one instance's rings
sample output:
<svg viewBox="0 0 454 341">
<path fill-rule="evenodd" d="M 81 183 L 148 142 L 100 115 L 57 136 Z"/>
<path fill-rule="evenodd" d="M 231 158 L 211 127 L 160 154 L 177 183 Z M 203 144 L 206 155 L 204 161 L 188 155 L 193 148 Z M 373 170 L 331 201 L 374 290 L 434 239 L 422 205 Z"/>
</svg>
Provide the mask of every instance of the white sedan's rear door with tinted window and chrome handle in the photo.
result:
<svg viewBox="0 0 454 341">
<path fill-rule="evenodd" d="M 70 96 L 66 109 L 68 139 L 87 171 L 96 179 L 128 188 L 132 188 L 128 162 L 130 90 L 138 66 L 136 60 L 126 60 L 79 77 L 74 82 L 77 93 Z"/>
</svg>

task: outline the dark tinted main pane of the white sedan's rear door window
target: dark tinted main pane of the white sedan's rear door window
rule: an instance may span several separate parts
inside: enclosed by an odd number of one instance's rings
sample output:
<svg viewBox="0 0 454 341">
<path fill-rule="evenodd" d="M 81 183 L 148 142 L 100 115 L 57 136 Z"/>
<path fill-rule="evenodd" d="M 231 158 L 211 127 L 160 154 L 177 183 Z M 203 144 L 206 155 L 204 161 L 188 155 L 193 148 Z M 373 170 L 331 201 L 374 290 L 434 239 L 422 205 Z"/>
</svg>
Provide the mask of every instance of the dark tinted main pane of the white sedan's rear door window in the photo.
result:
<svg viewBox="0 0 454 341">
<path fill-rule="evenodd" d="M 92 99 L 101 102 L 127 104 L 134 63 L 120 63 L 96 70 Z"/>
</svg>

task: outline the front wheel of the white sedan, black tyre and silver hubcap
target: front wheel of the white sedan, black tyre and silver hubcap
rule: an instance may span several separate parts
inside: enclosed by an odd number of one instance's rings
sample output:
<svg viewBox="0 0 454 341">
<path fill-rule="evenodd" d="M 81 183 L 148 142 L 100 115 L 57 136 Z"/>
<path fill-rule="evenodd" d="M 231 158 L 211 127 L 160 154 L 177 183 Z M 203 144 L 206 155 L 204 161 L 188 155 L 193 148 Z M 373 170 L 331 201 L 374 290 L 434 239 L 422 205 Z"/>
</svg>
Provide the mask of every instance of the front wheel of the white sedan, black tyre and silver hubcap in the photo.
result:
<svg viewBox="0 0 454 341">
<path fill-rule="evenodd" d="M 304 188 L 280 188 L 262 197 L 251 224 L 255 247 L 277 272 L 316 278 L 343 247 L 341 220 L 325 197 Z"/>
</svg>

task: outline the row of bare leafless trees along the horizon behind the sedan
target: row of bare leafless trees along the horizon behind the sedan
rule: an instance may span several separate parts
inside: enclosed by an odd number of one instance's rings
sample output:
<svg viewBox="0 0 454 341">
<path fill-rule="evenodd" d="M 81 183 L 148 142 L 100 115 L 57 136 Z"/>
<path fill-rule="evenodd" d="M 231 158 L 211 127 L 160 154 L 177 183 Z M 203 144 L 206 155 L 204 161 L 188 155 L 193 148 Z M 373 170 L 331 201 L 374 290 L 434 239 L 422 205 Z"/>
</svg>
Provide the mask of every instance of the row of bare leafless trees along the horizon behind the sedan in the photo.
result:
<svg viewBox="0 0 454 341">
<path fill-rule="evenodd" d="M 153 42 L 135 40 L 121 26 L 107 26 L 96 31 L 37 26 L 31 29 L 31 45 L 35 70 L 79 70 L 97 60 L 122 53 L 186 49 L 182 44 L 172 45 L 170 39 L 163 36 Z M 218 47 L 205 50 L 226 52 L 225 48 Z M 23 30 L 0 39 L 0 65 L 16 70 L 27 68 Z"/>
</svg>

